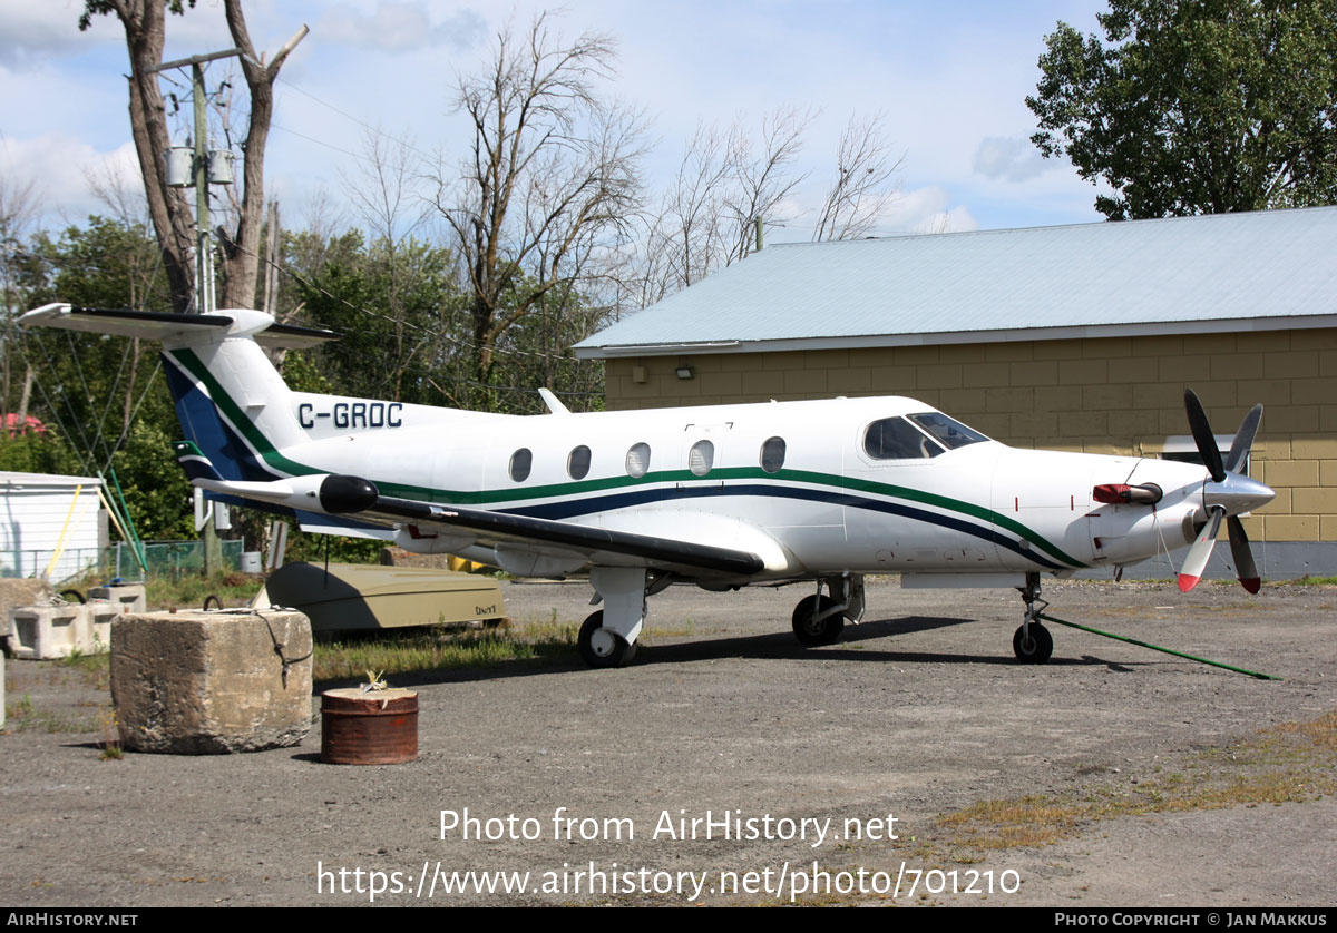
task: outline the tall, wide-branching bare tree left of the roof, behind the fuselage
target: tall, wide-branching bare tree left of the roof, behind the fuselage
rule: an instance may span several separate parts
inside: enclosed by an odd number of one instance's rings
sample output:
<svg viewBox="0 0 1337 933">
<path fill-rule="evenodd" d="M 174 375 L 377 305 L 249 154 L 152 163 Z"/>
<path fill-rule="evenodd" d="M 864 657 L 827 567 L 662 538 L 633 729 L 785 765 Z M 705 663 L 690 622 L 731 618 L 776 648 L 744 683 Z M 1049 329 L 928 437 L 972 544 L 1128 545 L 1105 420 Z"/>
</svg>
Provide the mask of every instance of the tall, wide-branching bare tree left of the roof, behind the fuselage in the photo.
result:
<svg viewBox="0 0 1337 933">
<path fill-rule="evenodd" d="M 497 36 L 487 74 L 460 79 L 472 152 L 457 182 L 439 176 L 437 205 L 464 266 L 483 385 L 503 336 L 554 290 L 579 290 L 638 207 L 643 122 L 596 91 L 614 57 L 607 37 L 566 43 L 540 13 L 523 36 Z"/>
</svg>

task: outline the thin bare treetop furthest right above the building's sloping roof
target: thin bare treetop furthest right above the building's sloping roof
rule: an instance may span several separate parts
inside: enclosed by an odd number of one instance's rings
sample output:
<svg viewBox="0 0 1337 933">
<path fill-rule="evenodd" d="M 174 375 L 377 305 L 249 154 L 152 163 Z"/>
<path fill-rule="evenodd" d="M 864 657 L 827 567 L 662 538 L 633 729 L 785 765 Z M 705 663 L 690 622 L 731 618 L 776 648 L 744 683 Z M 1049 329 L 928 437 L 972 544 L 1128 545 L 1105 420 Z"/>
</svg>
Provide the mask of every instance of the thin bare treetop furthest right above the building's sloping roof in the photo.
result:
<svg viewBox="0 0 1337 933">
<path fill-rule="evenodd" d="M 905 163 L 882 135 L 882 115 L 852 116 L 836 154 L 836 180 L 826 192 L 813 239 L 857 239 L 896 201 L 896 174 Z"/>
</svg>

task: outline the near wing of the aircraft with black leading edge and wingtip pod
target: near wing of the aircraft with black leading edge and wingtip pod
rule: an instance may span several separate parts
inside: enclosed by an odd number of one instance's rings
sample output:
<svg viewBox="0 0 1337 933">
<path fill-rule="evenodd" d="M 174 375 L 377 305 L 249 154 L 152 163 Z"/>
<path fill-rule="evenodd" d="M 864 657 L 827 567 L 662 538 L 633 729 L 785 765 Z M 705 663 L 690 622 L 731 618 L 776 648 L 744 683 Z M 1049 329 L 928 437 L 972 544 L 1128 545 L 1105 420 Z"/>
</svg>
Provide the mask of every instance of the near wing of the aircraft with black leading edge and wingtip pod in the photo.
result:
<svg viewBox="0 0 1337 933">
<path fill-rule="evenodd" d="M 751 576 L 766 567 L 766 561 L 755 553 L 714 544 L 382 496 L 373 483 L 356 476 L 326 477 L 321 483 L 320 501 L 330 515 L 408 523 L 418 529 L 441 529 L 452 536 L 463 533 L 479 544 L 547 545 L 582 555 L 591 563 L 644 563 L 718 576 Z M 627 561 L 628 557 L 632 561 Z"/>
</svg>

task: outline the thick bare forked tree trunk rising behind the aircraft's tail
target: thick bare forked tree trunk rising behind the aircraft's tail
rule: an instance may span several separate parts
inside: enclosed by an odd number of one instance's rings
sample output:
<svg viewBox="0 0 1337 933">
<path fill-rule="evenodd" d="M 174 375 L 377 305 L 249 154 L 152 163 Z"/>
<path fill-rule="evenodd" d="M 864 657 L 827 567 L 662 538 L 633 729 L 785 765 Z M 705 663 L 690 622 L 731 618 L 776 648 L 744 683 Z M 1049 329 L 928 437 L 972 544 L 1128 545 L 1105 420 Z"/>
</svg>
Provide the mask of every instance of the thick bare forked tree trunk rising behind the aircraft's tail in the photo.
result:
<svg viewBox="0 0 1337 933">
<path fill-rule="evenodd" d="M 163 250 L 172 294 L 172 307 L 189 310 L 194 297 L 195 273 L 191 257 L 195 250 L 195 218 L 191 205 L 179 188 L 167 187 L 163 154 L 168 147 L 167 114 L 158 86 L 162 64 L 167 12 L 183 13 L 194 0 L 84 0 L 79 28 L 87 29 L 94 16 L 114 13 L 126 31 L 130 51 L 130 128 L 144 178 L 148 215 Z M 259 233 L 265 213 L 265 143 L 274 112 L 274 80 L 287 55 L 306 27 L 293 36 L 266 64 L 255 52 L 241 0 L 223 0 L 223 15 L 237 48 L 241 68 L 250 92 L 250 114 L 242 167 L 242 195 L 237 231 L 223 250 L 223 307 L 247 307 L 255 299 L 259 273 Z"/>
</svg>

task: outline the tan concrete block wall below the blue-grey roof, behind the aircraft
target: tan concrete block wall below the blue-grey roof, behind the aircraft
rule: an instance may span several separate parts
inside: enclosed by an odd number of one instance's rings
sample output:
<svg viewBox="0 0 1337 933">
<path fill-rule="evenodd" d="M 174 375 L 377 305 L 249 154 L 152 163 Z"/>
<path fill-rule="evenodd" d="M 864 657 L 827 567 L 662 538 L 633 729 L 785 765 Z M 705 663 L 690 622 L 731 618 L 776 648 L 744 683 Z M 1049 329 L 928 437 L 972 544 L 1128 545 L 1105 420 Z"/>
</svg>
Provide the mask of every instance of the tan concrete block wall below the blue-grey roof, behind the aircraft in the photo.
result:
<svg viewBox="0 0 1337 933">
<path fill-rule="evenodd" d="M 1013 446 L 1148 456 L 1190 433 L 1186 385 L 1218 434 L 1265 406 L 1250 472 L 1277 499 L 1250 537 L 1337 541 L 1337 329 L 607 361 L 610 410 L 910 396 Z"/>
</svg>

